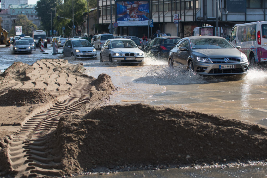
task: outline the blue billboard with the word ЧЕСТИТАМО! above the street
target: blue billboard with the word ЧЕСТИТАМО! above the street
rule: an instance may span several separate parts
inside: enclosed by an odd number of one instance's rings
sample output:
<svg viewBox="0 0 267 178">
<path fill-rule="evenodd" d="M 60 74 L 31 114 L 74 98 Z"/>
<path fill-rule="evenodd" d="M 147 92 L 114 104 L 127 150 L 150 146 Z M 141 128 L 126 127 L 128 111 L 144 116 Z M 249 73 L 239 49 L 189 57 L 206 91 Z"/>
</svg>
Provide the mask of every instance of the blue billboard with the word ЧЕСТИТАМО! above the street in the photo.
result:
<svg viewBox="0 0 267 178">
<path fill-rule="evenodd" d="M 119 26 L 145 26 L 149 21 L 149 1 L 116 1 Z"/>
</svg>

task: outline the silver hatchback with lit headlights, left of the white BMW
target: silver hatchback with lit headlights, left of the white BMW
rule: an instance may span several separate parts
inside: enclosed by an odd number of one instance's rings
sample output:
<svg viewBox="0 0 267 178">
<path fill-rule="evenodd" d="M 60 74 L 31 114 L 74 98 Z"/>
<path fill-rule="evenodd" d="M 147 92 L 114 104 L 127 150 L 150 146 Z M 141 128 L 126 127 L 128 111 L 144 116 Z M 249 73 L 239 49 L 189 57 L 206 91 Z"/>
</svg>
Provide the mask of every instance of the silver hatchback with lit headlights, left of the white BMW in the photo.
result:
<svg viewBox="0 0 267 178">
<path fill-rule="evenodd" d="M 93 58 L 96 59 L 96 49 L 87 39 L 68 39 L 64 46 L 62 54 L 64 56 L 75 56 L 75 58 Z"/>
</svg>

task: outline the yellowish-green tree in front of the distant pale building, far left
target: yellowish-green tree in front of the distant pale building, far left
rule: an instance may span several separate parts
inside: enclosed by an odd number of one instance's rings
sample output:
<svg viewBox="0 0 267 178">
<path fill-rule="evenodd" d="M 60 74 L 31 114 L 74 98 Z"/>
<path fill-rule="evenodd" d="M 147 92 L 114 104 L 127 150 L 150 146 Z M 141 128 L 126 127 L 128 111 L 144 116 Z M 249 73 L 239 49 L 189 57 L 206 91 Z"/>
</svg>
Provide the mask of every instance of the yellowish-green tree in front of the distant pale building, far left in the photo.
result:
<svg viewBox="0 0 267 178">
<path fill-rule="evenodd" d="M 15 36 L 15 26 L 22 26 L 22 33 L 24 33 L 25 36 L 32 36 L 33 30 L 37 29 L 37 26 L 30 21 L 26 15 L 17 16 L 15 23 L 9 31 L 10 36 Z"/>
</svg>

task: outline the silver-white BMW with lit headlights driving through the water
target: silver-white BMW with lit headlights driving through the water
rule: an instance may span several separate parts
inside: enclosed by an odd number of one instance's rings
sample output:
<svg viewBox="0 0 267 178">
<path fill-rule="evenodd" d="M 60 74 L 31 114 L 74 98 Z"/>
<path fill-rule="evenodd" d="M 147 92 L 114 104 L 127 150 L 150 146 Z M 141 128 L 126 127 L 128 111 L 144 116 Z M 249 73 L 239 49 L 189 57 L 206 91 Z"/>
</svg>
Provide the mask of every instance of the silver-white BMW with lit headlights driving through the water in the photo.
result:
<svg viewBox="0 0 267 178">
<path fill-rule="evenodd" d="M 118 64 L 143 63 L 144 52 L 142 46 L 136 46 L 131 39 L 108 39 L 100 51 L 100 61 L 116 62 Z"/>
</svg>

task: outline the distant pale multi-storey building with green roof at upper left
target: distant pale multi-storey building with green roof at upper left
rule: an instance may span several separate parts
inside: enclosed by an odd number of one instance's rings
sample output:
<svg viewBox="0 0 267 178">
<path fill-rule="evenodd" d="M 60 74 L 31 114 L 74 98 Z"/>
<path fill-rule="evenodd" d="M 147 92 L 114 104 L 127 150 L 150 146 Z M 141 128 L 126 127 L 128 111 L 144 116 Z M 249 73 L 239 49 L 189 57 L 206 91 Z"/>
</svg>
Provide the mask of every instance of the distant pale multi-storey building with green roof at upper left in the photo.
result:
<svg viewBox="0 0 267 178">
<path fill-rule="evenodd" d="M 35 7 L 36 5 L 9 5 L 8 9 L 4 9 L 0 13 L 3 19 L 2 27 L 6 31 L 10 31 L 14 24 L 14 19 L 17 18 L 17 15 L 21 14 L 26 15 L 37 27 L 40 26 L 40 19 L 38 18 Z"/>
</svg>

